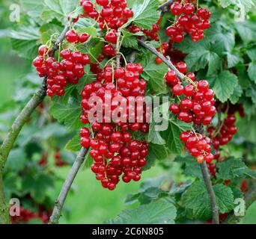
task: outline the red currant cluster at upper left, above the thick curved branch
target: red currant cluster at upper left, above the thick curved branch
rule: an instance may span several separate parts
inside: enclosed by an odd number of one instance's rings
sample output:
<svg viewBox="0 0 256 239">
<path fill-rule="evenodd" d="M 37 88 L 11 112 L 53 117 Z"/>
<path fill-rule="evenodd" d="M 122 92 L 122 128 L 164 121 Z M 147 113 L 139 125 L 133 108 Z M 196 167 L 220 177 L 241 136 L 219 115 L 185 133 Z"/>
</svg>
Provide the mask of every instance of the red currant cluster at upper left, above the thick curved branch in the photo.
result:
<svg viewBox="0 0 256 239">
<path fill-rule="evenodd" d="M 34 59 L 33 65 L 40 77 L 47 75 L 47 96 L 50 97 L 63 96 L 64 87 L 67 87 L 68 83 L 77 84 L 79 78 L 85 75 L 84 66 L 90 63 L 89 56 L 79 51 L 62 50 L 61 62 L 52 57 L 46 58 L 49 50 L 45 45 L 40 46 L 38 52 L 40 56 Z"/>
</svg>

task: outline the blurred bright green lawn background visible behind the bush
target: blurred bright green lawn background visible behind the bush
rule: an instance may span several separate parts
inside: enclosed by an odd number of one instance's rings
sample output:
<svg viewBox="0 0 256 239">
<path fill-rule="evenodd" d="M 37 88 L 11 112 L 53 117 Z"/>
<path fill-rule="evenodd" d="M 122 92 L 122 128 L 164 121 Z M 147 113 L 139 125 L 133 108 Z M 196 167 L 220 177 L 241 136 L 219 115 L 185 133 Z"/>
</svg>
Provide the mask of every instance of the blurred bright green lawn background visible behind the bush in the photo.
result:
<svg viewBox="0 0 256 239">
<path fill-rule="evenodd" d="M 0 106 L 11 99 L 15 81 L 19 81 L 19 78 L 30 69 L 30 63 L 19 58 L 11 50 L 10 41 L 7 37 L 11 22 L 8 20 L 6 7 L 8 8 L 10 2 L 0 1 Z M 56 169 L 58 176 L 63 179 L 67 176 L 69 170 L 69 167 Z M 142 180 L 154 178 L 163 172 L 162 167 L 153 167 L 143 173 Z M 180 176 L 173 177 L 180 178 Z M 129 207 L 124 205 L 124 199 L 128 193 L 135 193 L 139 184 L 139 182 L 121 183 L 115 191 L 109 191 L 100 186 L 90 170 L 81 170 L 73 184 L 72 192 L 67 197 L 61 223 L 103 223 L 104 220 L 117 216 L 121 210 Z M 61 183 L 58 183 L 55 194 L 52 194 L 53 198 L 57 197 L 60 189 Z M 132 205 L 132 207 L 134 206 L 136 205 Z M 243 223 L 256 223 L 255 215 L 256 203 L 247 211 Z"/>
</svg>

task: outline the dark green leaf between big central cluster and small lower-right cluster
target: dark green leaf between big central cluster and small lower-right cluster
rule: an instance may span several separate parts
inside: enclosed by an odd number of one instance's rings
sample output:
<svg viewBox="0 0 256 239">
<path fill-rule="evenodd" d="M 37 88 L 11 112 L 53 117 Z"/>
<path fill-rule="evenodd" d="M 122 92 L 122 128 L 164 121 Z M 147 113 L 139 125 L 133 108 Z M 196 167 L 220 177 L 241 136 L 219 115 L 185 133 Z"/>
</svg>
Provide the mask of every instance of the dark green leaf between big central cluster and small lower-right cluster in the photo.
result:
<svg viewBox="0 0 256 239">
<path fill-rule="evenodd" d="M 166 141 L 166 147 L 169 152 L 180 154 L 184 144 L 180 141 L 180 134 L 183 131 L 191 129 L 191 125 L 180 120 L 171 118 L 169 120 L 168 129 L 162 132 L 162 137 Z"/>
</svg>

